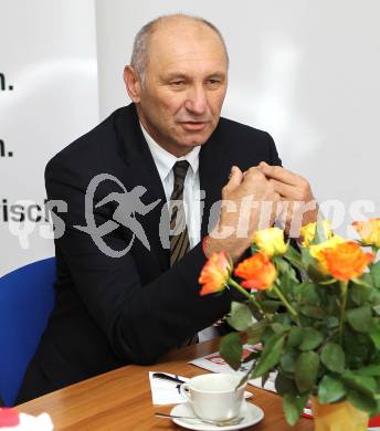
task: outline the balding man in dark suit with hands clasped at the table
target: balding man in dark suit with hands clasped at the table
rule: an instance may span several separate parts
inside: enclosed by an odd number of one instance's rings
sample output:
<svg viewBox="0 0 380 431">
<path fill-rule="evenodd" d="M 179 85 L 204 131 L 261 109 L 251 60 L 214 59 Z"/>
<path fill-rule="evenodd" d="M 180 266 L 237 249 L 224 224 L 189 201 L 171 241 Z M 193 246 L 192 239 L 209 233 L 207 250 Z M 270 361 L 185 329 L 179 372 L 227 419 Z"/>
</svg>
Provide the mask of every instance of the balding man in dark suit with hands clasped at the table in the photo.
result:
<svg viewBox="0 0 380 431">
<path fill-rule="evenodd" d="M 233 293 L 201 297 L 198 277 L 212 252 L 238 261 L 249 249 L 261 213 L 242 214 L 244 198 L 313 199 L 307 181 L 279 167 L 267 133 L 220 118 L 228 61 L 220 33 L 203 20 L 147 24 L 125 69 L 133 104 L 49 162 L 48 197 L 67 203 L 56 211 L 65 224 L 55 240 L 56 302 L 18 402 L 126 364 L 152 364 L 212 325 Z M 175 232 L 180 213 L 187 223 Z"/>
</svg>

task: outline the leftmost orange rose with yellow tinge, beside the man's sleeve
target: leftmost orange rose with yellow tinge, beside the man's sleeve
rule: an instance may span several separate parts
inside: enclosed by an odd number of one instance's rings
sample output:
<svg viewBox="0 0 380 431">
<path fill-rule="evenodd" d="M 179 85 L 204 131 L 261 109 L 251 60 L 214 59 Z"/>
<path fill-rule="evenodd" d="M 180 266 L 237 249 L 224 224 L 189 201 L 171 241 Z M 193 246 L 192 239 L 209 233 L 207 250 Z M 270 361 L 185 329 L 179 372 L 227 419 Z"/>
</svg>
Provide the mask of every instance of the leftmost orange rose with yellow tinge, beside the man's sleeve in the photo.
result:
<svg viewBox="0 0 380 431">
<path fill-rule="evenodd" d="M 222 291 L 226 286 L 232 272 L 232 264 L 224 251 L 213 253 L 207 261 L 198 280 L 202 284 L 200 295 L 209 295 Z"/>
</svg>

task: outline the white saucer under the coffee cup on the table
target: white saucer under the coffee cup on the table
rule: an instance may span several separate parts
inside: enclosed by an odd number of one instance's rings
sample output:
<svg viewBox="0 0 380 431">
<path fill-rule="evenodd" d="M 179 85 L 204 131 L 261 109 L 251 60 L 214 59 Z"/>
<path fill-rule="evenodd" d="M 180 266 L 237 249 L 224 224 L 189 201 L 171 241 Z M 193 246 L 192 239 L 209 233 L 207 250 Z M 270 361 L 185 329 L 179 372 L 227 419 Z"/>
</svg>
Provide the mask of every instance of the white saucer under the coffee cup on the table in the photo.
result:
<svg viewBox="0 0 380 431">
<path fill-rule="evenodd" d="M 189 416 L 197 418 L 191 404 L 189 402 L 184 402 L 182 404 L 178 404 L 171 409 L 170 414 L 176 416 Z M 238 425 L 228 425 L 228 427 L 217 427 L 210 425 L 208 423 L 201 423 L 192 421 L 191 419 L 172 419 L 175 423 L 187 428 L 188 430 L 198 430 L 198 431 L 229 431 L 229 430 L 241 430 L 242 428 L 254 425 L 260 422 L 264 418 L 263 410 L 250 402 L 243 402 L 240 414 L 244 417 L 244 420 L 240 422 Z"/>
</svg>

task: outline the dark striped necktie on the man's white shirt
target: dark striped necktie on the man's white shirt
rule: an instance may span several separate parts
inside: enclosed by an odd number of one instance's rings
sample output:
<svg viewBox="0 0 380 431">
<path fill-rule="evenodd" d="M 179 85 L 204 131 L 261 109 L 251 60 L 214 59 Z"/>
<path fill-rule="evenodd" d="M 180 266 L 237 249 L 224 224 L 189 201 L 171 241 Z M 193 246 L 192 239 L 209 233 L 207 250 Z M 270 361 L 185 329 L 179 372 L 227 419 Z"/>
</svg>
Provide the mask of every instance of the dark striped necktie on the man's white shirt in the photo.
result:
<svg viewBox="0 0 380 431">
<path fill-rule="evenodd" d="M 173 166 L 175 187 L 170 197 L 170 266 L 179 261 L 190 249 L 189 232 L 186 224 L 183 206 L 183 185 L 189 169 L 187 160 L 177 161 Z"/>
</svg>

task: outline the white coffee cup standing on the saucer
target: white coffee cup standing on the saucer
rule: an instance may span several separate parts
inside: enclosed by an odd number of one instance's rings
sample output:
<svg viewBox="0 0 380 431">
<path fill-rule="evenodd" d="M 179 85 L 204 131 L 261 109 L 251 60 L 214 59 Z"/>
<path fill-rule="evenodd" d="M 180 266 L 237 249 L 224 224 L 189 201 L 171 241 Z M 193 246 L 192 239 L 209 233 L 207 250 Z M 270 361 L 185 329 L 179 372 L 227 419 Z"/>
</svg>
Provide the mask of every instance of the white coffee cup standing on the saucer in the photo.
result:
<svg viewBox="0 0 380 431">
<path fill-rule="evenodd" d="M 201 419 L 232 419 L 239 416 L 244 399 L 246 385 L 236 389 L 241 379 L 241 376 L 226 374 L 197 376 L 181 385 L 181 395 Z"/>
</svg>

